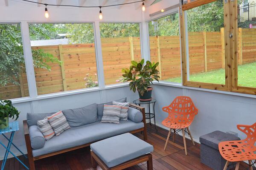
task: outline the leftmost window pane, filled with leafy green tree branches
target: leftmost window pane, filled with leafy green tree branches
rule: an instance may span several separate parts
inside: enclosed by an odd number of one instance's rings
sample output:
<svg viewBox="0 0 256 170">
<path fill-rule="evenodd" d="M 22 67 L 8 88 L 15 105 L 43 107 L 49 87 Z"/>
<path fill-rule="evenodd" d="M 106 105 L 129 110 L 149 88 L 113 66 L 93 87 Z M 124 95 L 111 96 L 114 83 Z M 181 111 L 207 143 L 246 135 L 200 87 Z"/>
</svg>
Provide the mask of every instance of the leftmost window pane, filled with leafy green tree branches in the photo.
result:
<svg viewBox="0 0 256 170">
<path fill-rule="evenodd" d="M 20 24 L 0 24 L 0 99 L 29 96 Z"/>
</svg>

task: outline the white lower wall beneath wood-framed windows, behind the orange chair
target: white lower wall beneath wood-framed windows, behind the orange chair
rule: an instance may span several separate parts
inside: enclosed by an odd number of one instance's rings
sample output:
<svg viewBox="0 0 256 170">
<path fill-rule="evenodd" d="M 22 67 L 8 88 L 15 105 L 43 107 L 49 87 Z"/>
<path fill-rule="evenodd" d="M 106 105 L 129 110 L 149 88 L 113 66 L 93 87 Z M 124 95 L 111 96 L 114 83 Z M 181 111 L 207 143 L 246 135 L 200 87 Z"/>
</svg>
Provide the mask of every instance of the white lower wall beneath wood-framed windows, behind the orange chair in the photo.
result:
<svg viewBox="0 0 256 170">
<path fill-rule="evenodd" d="M 168 116 L 162 108 L 170 105 L 176 96 L 191 97 L 198 108 L 198 115 L 190 126 L 192 136 L 197 142 L 201 135 L 215 130 L 234 131 L 244 139 L 246 136 L 236 125 L 252 125 L 256 122 L 255 98 L 165 85 L 154 85 L 153 96 L 157 99 L 156 123 L 161 127 L 164 127 L 161 122 Z"/>
</svg>

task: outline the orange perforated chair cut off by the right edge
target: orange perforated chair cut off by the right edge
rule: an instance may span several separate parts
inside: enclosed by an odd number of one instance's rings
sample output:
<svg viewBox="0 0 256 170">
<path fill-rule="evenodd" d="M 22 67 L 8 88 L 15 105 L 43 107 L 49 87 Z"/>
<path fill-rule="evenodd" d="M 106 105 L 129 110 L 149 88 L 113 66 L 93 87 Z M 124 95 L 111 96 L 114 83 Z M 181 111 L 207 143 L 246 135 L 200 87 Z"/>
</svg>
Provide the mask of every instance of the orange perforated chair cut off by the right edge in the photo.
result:
<svg viewBox="0 0 256 170">
<path fill-rule="evenodd" d="M 249 169 L 253 170 L 251 160 L 256 159 L 256 123 L 253 125 L 237 125 L 237 128 L 247 135 L 246 139 L 224 141 L 218 144 L 221 156 L 227 160 L 224 170 L 227 170 L 230 162 L 237 162 L 236 170 L 238 170 L 240 161 L 249 161 Z"/>
</svg>

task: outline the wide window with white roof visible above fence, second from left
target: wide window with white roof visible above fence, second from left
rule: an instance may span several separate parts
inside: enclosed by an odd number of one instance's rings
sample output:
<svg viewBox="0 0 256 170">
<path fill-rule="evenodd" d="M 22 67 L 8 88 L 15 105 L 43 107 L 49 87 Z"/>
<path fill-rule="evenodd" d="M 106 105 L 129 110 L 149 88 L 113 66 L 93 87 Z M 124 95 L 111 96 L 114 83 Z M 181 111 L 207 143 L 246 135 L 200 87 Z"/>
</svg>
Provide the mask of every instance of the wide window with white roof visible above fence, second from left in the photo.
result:
<svg viewBox="0 0 256 170">
<path fill-rule="evenodd" d="M 29 24 L 38 95 L 98 86 L 93 24 Z"/>
</svg>

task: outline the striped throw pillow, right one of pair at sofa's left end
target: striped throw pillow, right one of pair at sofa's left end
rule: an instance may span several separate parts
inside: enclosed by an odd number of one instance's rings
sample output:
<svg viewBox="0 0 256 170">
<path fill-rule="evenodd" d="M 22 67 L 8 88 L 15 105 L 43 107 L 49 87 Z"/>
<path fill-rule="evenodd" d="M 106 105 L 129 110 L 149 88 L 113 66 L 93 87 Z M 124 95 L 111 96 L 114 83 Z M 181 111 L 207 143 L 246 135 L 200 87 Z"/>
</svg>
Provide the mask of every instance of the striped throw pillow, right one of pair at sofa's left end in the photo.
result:
<svg viewBox="0 0 256 170">
<path fill-rule="evenodd" d="M 62 113 L 62 111 L 58 111 L 54 113 L 52 116 L 46 117 L 54 130 L 56 136 L 59 136 L 64 130 L 70 128 L 70 125 L 67 123 L 67 119 Z"/>
</svg>

